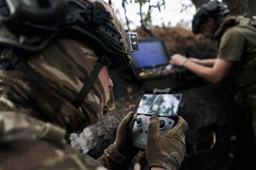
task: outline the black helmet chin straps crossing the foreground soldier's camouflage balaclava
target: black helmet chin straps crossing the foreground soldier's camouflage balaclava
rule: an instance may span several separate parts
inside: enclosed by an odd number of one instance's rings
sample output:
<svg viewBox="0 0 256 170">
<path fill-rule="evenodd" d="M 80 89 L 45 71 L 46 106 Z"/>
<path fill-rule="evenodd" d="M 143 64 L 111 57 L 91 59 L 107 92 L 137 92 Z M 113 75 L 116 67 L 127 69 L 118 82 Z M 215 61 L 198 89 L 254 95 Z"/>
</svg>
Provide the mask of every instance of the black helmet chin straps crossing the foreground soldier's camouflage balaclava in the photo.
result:
<svg viewBox="0 0 256 170">
<path fill-rule="evenodd" d="M 62 46 L 59 46 L 59 47 L 63 48 Z M 65 52 L 65 50 L 63 52 Z M 69 55 L 69 54 L 67 54 L 67 55 Z M 14 68 L 18 69 L 19 71 L 21 71 L 28 79 L 30 79 L 38 84 L 41 84 L 43 86 L 46 86 L 50 90 L 61 95 L 61 97 L 64 97 L 64 95 L 62 94 L 61 91 L 52 87 L 39 73 L 37 73 L 33 68 L 30 67 L 30 65 L 28 65 L 28 63 L 26 63 L 24 58 L 17 56 L 12 51 L 12 49 L 8 48 L 7 50 L 5 50 L 5 52 L 2 54 L 2 57 L 9 60 L 12 64 L 12 66 Z M 78 108 L 81 106 L 84 99 L 87 97 L 89 91 L 91 90 L 92 86 L 94 86 L 94 83 L 95 83 L 103 65 L 109 65 L 110 61 L 111 61 L 111 59 L 108 57 L 105 57 L 105 56 L 103 56 L 102 58 L 100 58 L 98 60 L 98 63 L 95 65 L 94 69 L 92 69 L 92 72 L 89 75 L 89 78 L 84 82 L 84 86 L 81 88 L 80 92 L 76 95 L 76 98 L 73 101 L 73 105 L 75 107 Z"/>
</svg>

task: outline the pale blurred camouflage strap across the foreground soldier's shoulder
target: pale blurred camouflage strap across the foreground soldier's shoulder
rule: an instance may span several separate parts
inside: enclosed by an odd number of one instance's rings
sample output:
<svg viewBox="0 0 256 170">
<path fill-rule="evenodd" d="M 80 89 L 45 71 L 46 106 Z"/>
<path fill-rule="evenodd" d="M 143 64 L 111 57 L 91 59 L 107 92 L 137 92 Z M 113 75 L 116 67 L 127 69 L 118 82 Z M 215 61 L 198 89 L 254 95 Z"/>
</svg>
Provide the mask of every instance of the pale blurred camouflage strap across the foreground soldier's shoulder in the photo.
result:
<svg viewBox="0 0 256 170">
<path fill-rule="evenodd" d="M 65 136 L 65 129 L 49 122 L 10 111 L 0 113 L 0 143 L 47 139 L 64 144 Z"/>
</svg>

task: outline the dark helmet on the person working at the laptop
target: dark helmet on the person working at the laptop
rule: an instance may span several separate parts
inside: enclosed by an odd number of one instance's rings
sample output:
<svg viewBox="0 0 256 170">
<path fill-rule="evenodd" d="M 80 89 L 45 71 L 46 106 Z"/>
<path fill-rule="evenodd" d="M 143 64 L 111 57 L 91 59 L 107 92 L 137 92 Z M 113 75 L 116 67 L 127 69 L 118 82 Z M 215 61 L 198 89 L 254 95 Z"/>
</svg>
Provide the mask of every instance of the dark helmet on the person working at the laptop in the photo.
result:
<svg viewBox="0 0 256 170">
<path fill-rule="evenodd" d="M 229 14 L 227 4 L 218 0 L 209 1 L 198 8 L 193 16 L 192 31 L 194 34 L 200 33 L 200 27 L 209 17 L 213 19 L 224 18 Z"/>
</svg>

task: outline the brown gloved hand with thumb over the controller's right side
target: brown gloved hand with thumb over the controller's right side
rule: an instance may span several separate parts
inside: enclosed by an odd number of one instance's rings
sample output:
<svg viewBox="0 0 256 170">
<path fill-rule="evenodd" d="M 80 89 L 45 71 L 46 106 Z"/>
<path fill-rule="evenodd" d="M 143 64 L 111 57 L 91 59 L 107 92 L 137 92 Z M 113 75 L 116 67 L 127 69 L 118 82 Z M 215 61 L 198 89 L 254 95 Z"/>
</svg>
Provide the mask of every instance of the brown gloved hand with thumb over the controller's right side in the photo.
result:
<svg viewBox="0 0 256 170">
<path fill-rule="evenodd" d="M 149 167 L 178 170 L 186 151 L 185 135 L 188 124 L 178 116 L 177 124 L 165 134 L 159 132 L 159 120 L 150 117 L 146 156 Z"/>
</svg>

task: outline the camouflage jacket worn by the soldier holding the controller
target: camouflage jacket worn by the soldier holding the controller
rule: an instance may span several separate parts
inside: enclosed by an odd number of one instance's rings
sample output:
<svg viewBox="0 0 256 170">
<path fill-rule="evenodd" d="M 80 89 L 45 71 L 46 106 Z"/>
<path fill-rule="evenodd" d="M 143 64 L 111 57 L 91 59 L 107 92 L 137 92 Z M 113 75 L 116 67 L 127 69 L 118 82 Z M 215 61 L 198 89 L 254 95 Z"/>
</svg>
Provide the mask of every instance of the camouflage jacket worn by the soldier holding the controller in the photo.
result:
<svg viewBox="0 0 256 170">
<path fill-rule="evenodd" d="M 47 102 L 47 89 L 32 88 L 31 83 L 17 78 L 19 73 L 9 76 L 9 72 L 0 71 L 0 170 L 127 168 L 130 160 L 116 152 L 113 145 L 99 162 L 69 146 L 65 123 L 60 116 L 55 117 L 61 112 L 53 113 L 58 110 L 56 106 L 63 108 L 67 103 L 61 99 Z"/>
</svg>

